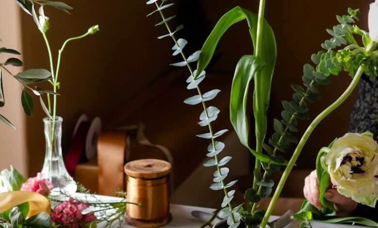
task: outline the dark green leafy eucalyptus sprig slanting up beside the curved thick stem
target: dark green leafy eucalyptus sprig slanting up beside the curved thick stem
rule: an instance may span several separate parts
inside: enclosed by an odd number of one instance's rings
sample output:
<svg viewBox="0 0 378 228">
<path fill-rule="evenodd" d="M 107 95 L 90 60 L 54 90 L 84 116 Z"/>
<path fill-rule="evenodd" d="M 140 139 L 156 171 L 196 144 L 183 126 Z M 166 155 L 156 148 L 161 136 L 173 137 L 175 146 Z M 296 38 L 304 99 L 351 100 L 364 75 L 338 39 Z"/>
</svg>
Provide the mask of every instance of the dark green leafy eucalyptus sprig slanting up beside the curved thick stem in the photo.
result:
<svg viewBox="0 0 378 228">
<path fill-rule="evenodd" d="M 350 47 L 348 46 L 346 48 L 347 50 L 342 49 L 340 51 L 334 51 L 333 49 L 339 48 L 342 45 L 354 45 L 354 43 L 356 43 L 352 34 L 355 33 L 354 31 L 356 31 L 358 27 L 356 25 L 350 25 L 349 23 L 354 23 L 358 20 L 358 12 L 359 10 L 349 8 L 349 15 L 336 16 L 341 24 L 334 26 L 332 30 L 327 29 L 327 33 L 331 34 L 332 38 L 326 40 L 321 45 L 325 51 L 319 51 L 317 54 L 311 56 L 311 60 L 313 64 L 316 65 L 316 68 L 310 64 L 303 66 L 302 80 L 305 88 L 300 85 L 291 86 L 295 91 L 293 100 L 282 102 L 284 107 L 284 111 L 281 113 L 282 119 L 274 119 L 273 126 L 275 133 L 269 139 L 269 145 L 264 144 L 264 149 L 270 156 L 278 156 L 277 151 L 285 153 L 292 144 L 298 144 L 298 138 L 294 133 L 298 132 L 297 126 L 300 120 L 309 119 L 308 105 L 306 102 L 316 102 L 320 100 L 318 86 L 331 84 L 329 76 L 339 75 L 340 71 L 343 69 L 343 65 L 344 69 L 350 72 L 351 75 L 355 74 L 355 71 L 349 69 L 356 64 L 350 63 L 356 58 L 355 54 L 351 54 L 347 51 L 350 50 Z M 360 65 L 362 63 L 359 62 L 357 64 Z M 265 183 L 268 176 L 280 170 L 280 166 L 270 163 L 263 164 L 263 168 L 265 170 L 263 176 L 255 171 L 255 174 L 261 177 L 261 183 Z M 260 189 L 263 191 L 264 186 L 260 185 L 257 193 L 261 192 Z"/>
</svg>

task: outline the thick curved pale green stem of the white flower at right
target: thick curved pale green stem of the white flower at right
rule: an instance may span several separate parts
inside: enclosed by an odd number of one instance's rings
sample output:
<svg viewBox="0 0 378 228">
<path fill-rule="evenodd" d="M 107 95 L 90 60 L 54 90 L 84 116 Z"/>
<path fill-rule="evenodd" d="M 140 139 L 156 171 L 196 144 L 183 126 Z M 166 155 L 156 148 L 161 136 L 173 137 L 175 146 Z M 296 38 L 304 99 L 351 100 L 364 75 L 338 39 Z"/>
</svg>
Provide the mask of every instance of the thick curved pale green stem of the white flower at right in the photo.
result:
<svg viewBox="0 0 378 228">
<path fill-rule="evenodd" d="M 369 47 L 367 47 L 366 49 L 366 52 L 372 52 L 375 50 L 375 48 L 377 47 L 377 44 L 372 42 Z M 302 138 L 300 139 L 299 141 L 299 144 L 297 146 L 297 148 L 295 149 L 294 153 L 293 153 L 293 156 L 291 157 L 288 165 L 286 166 L 286 169 L 280 179 L 280 182 L 278 183 L 277 185 L 277 189 L 276 191 L 274 192 L 274 195 L 269 203 L 269 206 L 268 206 L 268 209 L 267 209 L 267 212 L 265 213 L 265 216 L 263 218 L 263 221 L 260 225 L 260 228 L 265 228 L 267 223 L 268 223 L 268 219 L 270 217 L 270 215 L 272 214 L 273 212 L 273 209 L 277 203 L 277 200 L 278 198 L 280 197 L 280 194 L 284 188 L 284 185 L 286 183 L 286 180 L 287 178 L 289 177 L 290 175 L 290 172 L 291 170 L 293 169 L 295 163 L 297 162 L 298 160 L 298 157 L 300 155 L 300 152 L 302 151 L 304 145 L 306 144 L 308 138 L 310 137 L 311 133 L 315 130 L 316 126 L 326 117 L 328 116 L 329 114 L 331 114 L 331 112 L 333 112 L 336 108 L 338 108 L 342 103 L 344 103 L 344 101 L 350 96 L 350 94 L 353 92 L 353 90 L 356 88 L 356 86 L 358 85 L 358 82 L 360 81 L 361 79 L 361 76 L 364 72 L 364 66 L 361 65 L 355 76 L 353 77 L 353 80 L 352 82 L 349 84 L 347 90 L 335 101 L 333 102 L 327 109 L 325 109 L 321 114 L 319 114 L 318 116 L 316 116 L 316 118 L 313 120 L 313 122 L 310 124 L 310 126 L 307 128 L 307 130 L 304 132 Z"/>
</svg>

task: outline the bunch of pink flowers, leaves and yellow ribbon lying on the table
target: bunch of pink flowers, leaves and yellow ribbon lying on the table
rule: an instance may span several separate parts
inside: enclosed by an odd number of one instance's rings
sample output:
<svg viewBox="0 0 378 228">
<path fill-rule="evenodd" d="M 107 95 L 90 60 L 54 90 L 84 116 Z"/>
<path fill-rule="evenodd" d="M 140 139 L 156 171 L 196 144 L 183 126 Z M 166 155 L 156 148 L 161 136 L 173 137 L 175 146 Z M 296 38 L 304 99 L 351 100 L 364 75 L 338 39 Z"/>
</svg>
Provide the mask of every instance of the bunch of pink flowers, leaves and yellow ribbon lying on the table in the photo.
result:
<svg viewBox="0 0 378 228">
<path fill-rule="evenodd" d="M 62 191 L 66 200 L 58 201 L 50 195 L 53 189 L 41 173 L 25 179 L 13 166 L 1 171 L 0 228 L 95 228 L 97 224 L 122 224 L 128 203 L 124 192 L 116 192 L 121 197 L 118 202 L 104 202 L 79 184 L 85 200 Z"/>
</svg>

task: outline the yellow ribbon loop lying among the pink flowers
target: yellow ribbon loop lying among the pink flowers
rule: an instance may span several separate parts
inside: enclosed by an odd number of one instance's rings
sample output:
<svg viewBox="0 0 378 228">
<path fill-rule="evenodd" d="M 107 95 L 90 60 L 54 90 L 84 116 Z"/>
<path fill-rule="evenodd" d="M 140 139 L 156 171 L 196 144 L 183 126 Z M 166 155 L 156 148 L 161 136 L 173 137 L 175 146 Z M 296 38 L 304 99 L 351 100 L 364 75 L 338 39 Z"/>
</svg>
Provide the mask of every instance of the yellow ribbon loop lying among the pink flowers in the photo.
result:
<svg viewBox="0 0 378 228">
<path fill-rule="evenodd" d="M 45 196 L 38 193 L 20 191 L 0 194 L 0 213 L 26 202 L 29 203 L 28 218 L 40 212 L 51 213 L 50 202 Z"/>
</svg>

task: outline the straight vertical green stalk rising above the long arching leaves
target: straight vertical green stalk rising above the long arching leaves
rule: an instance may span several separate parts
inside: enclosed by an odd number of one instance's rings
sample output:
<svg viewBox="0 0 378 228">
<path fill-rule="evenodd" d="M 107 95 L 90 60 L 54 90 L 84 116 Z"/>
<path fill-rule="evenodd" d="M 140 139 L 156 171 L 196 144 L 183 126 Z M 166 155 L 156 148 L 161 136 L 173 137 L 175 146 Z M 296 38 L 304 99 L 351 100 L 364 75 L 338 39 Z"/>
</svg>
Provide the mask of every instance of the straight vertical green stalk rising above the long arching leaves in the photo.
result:
<svg viewBox="0 0 378 228">
<path fill-rule="evenodd" d="M 262 54 L 265 1 L 266 0 L 260 0 L 260 5 L 259 5 L 259 15 L 257 19 L 256 49 L 254 52 L 256 58 L 259 58 Z M 255 88 L 255 91 L 256 91 L 256 88 Z M 260 142 L 258 139 L 256 140 L 256 152 L 258 153 L 263 152 L 263 142 Z M 261 170 L 261 163 L 257 158 L 255 160 L 254 168 L 257 170 Z M 253 189 L 255 190 L 257 190 L 258 188 L 257 182 L 258 182 L 257 178 L 253 177 Z"/>
</svg>

